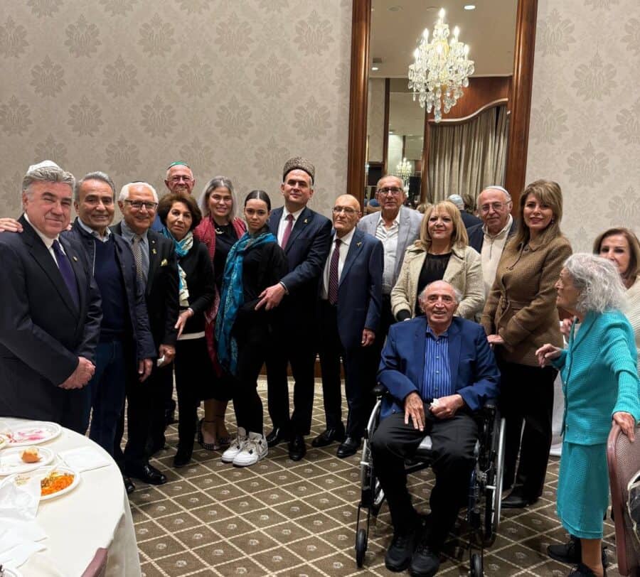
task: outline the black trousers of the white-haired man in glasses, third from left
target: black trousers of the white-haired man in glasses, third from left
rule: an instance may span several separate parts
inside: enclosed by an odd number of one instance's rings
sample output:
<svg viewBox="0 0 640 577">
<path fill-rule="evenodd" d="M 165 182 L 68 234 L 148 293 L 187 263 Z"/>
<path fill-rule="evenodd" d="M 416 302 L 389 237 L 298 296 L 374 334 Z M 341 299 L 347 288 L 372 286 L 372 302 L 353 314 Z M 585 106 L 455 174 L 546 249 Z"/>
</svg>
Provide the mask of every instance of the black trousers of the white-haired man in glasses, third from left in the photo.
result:
<svg viewBox="0 0 640 577">
<path fill-rule="evenodd" d="M 147 445 L 154 431 L 154 415 L 161 413 L 161 443 L 164 446 L 164 402 L 160 394 L 165 380 L 173 382 L 174 365 L 155 367 L 149 378 L 139 382 L 137 378 L 127 379 L 127 446 L 122 452 L 124 434 L 124 410 L 120 415 L 114 441 L 114 459 L 119 467 L 139 469 L 149 463 Z M 173 386 L 173 385 L 172 385 Z"/>
</svg>

